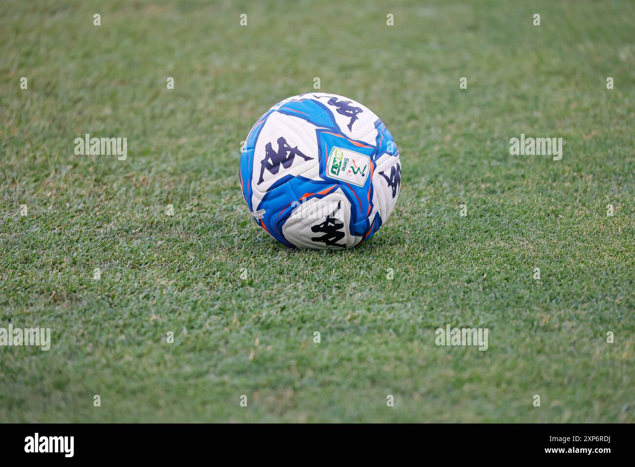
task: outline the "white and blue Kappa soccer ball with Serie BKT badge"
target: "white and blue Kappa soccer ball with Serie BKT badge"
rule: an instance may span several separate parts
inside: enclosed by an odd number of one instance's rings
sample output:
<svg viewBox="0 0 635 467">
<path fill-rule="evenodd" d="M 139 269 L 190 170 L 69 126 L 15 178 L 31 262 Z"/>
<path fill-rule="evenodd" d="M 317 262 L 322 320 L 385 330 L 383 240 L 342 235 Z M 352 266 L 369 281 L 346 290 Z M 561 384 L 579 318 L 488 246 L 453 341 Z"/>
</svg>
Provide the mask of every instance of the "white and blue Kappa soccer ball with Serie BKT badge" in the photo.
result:
<svg viewBox="0 0 635 467">
<path fill-rule="evenodd" d="M 330 93 L 290 97 L 251 128 L 240 184 L 253 219 L 288 247 L 351 248 L 391 215 L 399 151 L 373 112 Z"/>
</svg>

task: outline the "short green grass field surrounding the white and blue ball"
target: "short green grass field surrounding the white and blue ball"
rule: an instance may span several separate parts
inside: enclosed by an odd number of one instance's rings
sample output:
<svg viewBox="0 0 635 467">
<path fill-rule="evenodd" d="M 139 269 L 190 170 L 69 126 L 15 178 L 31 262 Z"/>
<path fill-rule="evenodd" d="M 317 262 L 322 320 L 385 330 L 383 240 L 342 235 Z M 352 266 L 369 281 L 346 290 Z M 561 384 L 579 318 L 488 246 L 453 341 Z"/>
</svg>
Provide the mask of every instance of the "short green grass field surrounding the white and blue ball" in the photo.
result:
<svg viewBox="0 0 635 467">
<path fill-rule="evenodd" d="M 0 327 L 52 342 L 0 347 L 1 422 L 635 421 L 635 4 L 363 4 L 3 3 Z M 241 140 L 316 77 L 401 152 L 354 250 L 283 247 L 239 189 Z"/>
</svg>

